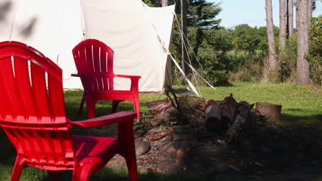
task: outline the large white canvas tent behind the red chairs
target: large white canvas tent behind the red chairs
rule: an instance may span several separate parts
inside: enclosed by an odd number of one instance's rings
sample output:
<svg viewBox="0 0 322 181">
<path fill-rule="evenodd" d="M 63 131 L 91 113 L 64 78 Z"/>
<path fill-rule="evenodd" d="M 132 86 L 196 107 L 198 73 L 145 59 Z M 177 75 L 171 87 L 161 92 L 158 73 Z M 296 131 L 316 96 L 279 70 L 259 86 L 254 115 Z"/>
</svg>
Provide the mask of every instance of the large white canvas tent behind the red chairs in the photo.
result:
<svg viewBox="0 0 322 181">
<path fill-rule="evenodd" d="M 149 8 L 140 0 L 4 0 L 0 41 L 34 47 L 63 69 L 64 88 L 83 88 L 72 49 L 96 38 L 114 49 L 116 74 L 140 75 L 140 92 L 162 93 L 171 85 L 167 67 L 174 5 Z M 127 89 L 122 80 L 116 88 Z"/>
</svg>

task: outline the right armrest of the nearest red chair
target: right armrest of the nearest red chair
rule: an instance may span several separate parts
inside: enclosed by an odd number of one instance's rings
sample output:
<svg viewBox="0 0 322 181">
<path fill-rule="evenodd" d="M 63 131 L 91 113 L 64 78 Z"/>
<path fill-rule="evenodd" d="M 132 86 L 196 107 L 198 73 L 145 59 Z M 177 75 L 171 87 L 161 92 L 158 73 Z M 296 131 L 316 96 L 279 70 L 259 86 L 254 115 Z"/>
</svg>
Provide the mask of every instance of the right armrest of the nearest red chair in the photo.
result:
<svg viewBox="0 0 322 181">
<path fill-rule="evenodd" d="M 85 128 L 99 127 L 103 125 L 111 125 L 115 123 L 122 123 L 125 121 L 133 121 L 136 118 L 135 112 L 121 111 L 114 114 L 108 114 L 103 117 L 95 117 L 85 121 L 69 121 L 74 126 L 81 126 Z"/>
</svg>

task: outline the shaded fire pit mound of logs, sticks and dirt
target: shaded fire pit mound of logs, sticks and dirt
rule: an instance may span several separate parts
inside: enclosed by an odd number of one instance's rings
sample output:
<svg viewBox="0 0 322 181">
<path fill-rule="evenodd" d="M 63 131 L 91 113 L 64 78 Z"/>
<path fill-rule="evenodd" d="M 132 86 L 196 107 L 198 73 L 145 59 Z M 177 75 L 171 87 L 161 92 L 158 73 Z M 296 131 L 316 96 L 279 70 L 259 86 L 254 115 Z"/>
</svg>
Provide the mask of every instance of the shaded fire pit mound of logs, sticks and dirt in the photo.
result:
<svg viewBox="0 0 322 181">
<path fill-rule="evenodd" d="M 142 171 L 257 173 L 296 158 L 297 142 L 288 130 L 232 94 L 222 100 L 182 95 L 147 104 L 152 116 L 142 116 L 134 130 Z"/>
</svg>

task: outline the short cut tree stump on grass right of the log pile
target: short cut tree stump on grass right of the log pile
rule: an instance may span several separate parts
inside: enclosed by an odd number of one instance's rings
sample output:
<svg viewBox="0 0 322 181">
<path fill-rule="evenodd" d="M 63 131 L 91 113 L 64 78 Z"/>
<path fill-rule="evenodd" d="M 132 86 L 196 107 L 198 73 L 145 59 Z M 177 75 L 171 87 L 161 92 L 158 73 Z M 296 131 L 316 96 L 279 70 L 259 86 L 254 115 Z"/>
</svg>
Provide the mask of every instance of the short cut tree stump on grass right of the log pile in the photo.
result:
<svg viewBox="0 0 322 181">
<path fill-rule="evenodd" d="M 279 121 L 281 118 L 281 105 L 257 102 L 256 109 L 270 121 Z"/>
</svg>

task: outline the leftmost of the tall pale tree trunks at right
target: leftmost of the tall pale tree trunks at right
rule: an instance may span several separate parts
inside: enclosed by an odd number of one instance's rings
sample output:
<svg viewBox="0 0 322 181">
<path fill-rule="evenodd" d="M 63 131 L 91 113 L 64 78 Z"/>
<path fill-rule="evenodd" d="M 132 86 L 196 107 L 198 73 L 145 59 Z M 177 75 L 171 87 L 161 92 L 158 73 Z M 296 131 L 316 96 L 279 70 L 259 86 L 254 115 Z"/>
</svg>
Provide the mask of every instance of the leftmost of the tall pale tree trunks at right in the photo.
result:
<svg viewBox="0 0 322 181">
<path fill-rule="evenodd" d="M 275 40 L 274 40 L 274 25 L 272 19 L 272 0 L 266 0 L 266 26 L 268 39 L 268 69 L 275 70 Z"/>
</svg>

